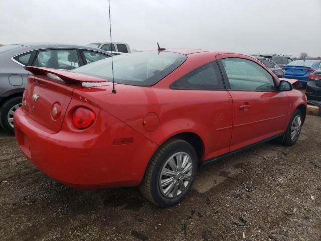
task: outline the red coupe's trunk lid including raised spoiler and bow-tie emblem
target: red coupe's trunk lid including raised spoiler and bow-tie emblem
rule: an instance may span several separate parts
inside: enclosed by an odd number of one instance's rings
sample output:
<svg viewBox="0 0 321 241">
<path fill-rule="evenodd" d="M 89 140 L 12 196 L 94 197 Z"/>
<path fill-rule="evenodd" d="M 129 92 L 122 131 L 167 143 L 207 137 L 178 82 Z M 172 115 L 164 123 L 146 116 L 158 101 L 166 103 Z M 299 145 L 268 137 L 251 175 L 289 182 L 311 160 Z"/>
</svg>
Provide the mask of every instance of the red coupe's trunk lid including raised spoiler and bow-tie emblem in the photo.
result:
<svg viewBox="0 0 321 241">
<path fill-rule="evenodd" d="M 36 75 L 28 78 L 23 97 L 23 109 L 34 121 L 55 132 L 61 130 L 73 90 L 79 88 L 82 82 L 106 81 L 63 70 L 25 68 Z M 58 112 L 55 118 L 54 105 Z"/>
</svg>

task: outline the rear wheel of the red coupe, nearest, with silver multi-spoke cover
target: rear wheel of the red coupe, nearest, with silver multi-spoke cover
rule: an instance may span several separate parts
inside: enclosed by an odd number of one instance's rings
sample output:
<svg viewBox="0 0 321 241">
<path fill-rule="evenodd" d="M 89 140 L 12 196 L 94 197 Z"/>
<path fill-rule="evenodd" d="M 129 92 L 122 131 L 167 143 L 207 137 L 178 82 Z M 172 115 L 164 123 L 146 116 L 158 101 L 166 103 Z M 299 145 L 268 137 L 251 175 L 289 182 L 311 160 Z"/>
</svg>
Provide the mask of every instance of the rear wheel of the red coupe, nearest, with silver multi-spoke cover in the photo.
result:
<svg viewBox="0 0 321 241">
<path fill-rule="evenodd" d="M 175 205 L 189 192 L 196 172 L 197 156 L 191 144 L 171 139 L 151 158 L 139 189 L 159 207 Z"/>
</svg>

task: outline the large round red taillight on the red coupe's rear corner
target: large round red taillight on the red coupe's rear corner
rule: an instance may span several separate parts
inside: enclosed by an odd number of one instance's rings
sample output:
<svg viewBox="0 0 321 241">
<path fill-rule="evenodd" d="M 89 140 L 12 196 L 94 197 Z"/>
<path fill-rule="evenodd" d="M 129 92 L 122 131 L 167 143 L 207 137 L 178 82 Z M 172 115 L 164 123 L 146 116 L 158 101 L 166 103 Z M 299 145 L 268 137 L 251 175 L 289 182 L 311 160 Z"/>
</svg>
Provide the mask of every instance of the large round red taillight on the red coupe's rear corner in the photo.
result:
<svg viewBox="0 0 321 241">
<path fill-rule="evenodd" d="M 72 114 L 72 122 L 77 129 L 86 129 L 95 121 L 96 115 L 90 109 L 78 107 Z"/>
</svg>

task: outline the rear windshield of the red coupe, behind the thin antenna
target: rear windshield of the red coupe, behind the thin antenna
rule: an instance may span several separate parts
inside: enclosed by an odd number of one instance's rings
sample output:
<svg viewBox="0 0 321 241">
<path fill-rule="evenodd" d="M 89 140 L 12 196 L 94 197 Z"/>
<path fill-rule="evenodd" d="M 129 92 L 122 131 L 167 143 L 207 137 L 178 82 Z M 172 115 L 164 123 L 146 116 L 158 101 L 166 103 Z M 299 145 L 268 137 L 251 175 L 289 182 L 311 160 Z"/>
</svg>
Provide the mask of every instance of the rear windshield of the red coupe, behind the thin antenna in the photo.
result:
<svg viewBox="0 0 321 241">
<path fill-rule="evenodd" d="M 115 83 L 151 86 L 178 68 L 186 55 L 172 52 L 145 51 L 113 57 Z M 72 72 L 100 77 L 112 82 L 111 58 L 84 65 Z"/>
</svg>

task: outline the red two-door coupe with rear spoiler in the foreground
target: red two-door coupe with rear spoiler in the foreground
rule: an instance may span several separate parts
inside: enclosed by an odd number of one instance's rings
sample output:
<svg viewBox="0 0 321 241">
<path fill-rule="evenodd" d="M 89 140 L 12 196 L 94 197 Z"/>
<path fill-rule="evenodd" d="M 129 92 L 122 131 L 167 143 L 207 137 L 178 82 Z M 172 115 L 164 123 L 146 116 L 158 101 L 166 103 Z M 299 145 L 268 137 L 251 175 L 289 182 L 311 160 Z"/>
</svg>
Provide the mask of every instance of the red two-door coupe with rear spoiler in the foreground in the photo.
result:
<svg viewBox="0 0 321 241">
<path fill-rule="evenodd" d="M 186 196 L 198 164 L 271 139 L 294 145 L 305 118 L 297 81 L 242 54 L 144 51 L 114 57 L 113 71 L 111 58 L 26 69 L 14 118 L 25 156 L 66 185 L 139 185 L 163 207 Z"/>
</svg>

